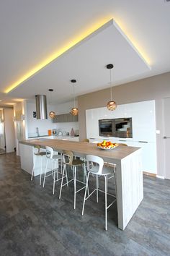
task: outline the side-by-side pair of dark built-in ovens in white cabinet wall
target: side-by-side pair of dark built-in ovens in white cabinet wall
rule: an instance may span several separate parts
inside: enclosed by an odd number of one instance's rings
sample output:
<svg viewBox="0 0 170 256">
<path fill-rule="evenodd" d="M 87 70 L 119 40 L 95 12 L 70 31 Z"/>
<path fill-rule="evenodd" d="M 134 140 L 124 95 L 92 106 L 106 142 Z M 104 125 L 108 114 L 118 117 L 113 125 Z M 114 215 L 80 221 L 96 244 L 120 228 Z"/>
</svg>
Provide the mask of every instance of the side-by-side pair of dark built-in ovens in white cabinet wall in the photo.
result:
<svg viewBox="0 0 170 256">
<path fill-rule="evenodd" d="M 118 119 L 100 119 L 99 120 L 99 136 L 110 137 L 133 137 L 132 118 Z"/>
</svg>

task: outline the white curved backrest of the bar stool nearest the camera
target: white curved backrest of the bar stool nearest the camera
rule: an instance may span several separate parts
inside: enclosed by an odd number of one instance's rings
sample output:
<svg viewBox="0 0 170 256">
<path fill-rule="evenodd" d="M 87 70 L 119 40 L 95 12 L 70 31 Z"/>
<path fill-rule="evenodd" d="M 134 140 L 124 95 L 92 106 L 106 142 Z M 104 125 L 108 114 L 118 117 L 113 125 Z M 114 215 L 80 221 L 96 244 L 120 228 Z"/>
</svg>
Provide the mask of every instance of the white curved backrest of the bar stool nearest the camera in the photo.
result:
<svg viewBox="0 0 170 256">
<path fill-rule="evenodd" d="M 103 158 L 100 158 L 97 155 L 86 155 L 87 161 L 87 170 L 94 174 L 102 174 L 102 168 L 104 166 Z M 97 165 L 92 165 L 91 162 L 97 163 Z"/>
</svg>

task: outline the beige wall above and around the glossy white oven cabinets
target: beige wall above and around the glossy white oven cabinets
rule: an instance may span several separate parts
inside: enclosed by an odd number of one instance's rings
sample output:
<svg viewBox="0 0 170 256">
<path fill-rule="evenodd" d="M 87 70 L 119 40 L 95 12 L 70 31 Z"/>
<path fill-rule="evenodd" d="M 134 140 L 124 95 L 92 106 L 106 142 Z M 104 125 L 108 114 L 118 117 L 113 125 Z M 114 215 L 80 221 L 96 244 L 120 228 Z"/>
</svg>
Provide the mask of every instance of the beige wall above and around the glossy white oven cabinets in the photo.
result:
<svg viewBox="0 0 170 256">
<path fill-rule="evenodd" d="M 156 100 L 156 129 L 161 131 L 160 135 L 156 135 L 157 165 L 158 175 L 160 176 L 164 176 L 163 99 L 166 97 L 170 97 L 170 72 L 135 82 L 128 82 L 113 88 L 113 98 L 117 105 Z M 109 88 L 79 96 L 80 140 L 86 137 L 86 109 L 106 106 L 109 98 Z"/>
</svg>

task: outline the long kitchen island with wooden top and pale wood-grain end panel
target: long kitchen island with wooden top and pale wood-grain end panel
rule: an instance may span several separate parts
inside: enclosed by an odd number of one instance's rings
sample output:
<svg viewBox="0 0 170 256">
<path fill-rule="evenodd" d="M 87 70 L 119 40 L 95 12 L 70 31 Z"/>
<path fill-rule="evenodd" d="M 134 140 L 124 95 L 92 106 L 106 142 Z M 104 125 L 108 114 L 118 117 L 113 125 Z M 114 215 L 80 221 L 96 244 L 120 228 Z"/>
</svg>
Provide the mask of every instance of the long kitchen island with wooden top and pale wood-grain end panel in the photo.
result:
<svg viewBox="0 0 170 256">
<path fill-rule="evenodd" d="M 55 150 L 72 150 L 75 155 L 98 155 L 109 163 L 115 163 L 117 180 L 118 227 L 124 230 L 143 200 L 143 172 L 141 168 L 141 150 L 135 147 L 118 146 L 113 150 L 101 150 L 97 145 L 86 142 L 66 140 L 24 140 L 20 142 L 21 168 L 25 170 L 25 155 L 32 154 L 32 147 L 40 145 L 53 147 Z M 30 170 L 29 170 L 30 168 Z M 30 163 L 28 171 L 32 171 Z"/>
</svg>

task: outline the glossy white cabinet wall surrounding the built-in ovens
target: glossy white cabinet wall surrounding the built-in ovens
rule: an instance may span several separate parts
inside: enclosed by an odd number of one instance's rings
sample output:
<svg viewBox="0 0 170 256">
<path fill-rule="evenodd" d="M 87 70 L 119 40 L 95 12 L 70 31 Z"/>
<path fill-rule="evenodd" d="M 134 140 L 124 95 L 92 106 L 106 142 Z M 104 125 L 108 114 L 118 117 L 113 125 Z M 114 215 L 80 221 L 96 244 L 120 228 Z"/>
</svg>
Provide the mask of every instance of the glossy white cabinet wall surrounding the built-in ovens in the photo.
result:
<svg viewBox="0 0 170 256">
<path fill-rule="evenodd" d="M 99 136 L 99 119 L 122 117 L 132 117 L 133 138 Z M 93 143 L 111 140 L 142 148 L 143 171 L 157 173 L 155 101 L 123 104 L 115 111 L 108 111 L 106 107 L 86 110 L 86 137 Z"/>
</svg>

